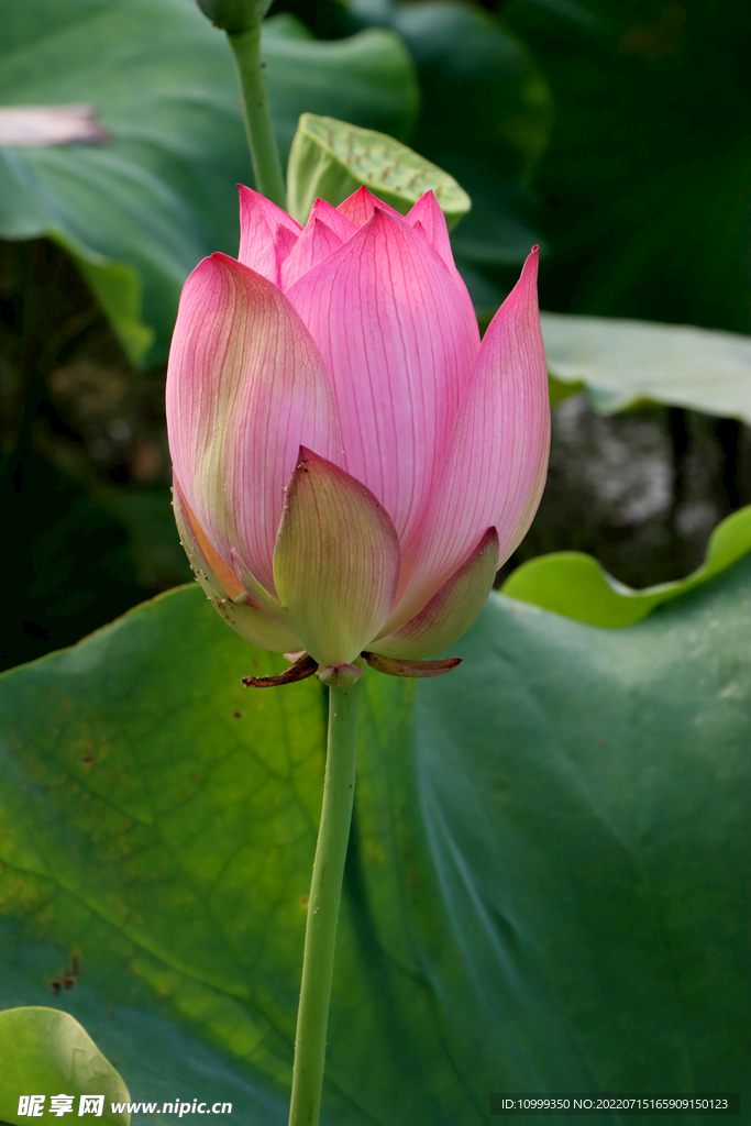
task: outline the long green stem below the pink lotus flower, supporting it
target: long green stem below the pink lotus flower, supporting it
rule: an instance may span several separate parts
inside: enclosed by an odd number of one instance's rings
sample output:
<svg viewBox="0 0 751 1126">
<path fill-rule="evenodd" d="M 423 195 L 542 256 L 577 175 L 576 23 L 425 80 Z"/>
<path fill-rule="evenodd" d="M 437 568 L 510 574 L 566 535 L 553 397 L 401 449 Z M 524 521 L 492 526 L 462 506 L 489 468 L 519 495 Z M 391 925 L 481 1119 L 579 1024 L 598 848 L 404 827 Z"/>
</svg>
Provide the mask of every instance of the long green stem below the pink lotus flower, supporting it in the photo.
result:
<svg viewBox="0 0 751 1126">
<path fill-rule="evenodd" d="M 329 688 L 329 748 L 307 904 L 289 1126 L 316 1126 L 321 1107 L 337 918 L 355 797 L 359 689 L 359 683 Z"/>
</svg>

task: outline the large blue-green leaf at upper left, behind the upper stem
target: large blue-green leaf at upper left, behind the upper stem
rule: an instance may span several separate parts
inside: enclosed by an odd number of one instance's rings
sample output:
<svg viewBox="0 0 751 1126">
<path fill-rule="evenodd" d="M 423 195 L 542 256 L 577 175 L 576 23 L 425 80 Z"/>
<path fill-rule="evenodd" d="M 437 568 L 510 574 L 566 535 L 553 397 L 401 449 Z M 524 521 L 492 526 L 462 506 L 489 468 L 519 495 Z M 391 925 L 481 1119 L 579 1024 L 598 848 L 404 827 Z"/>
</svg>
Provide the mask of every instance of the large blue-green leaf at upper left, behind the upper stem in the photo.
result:
<svg viewBox="0 0 751 1126">
<path fill-rule="evenodd" d="M 92 102 L 111 140 L 0 151 L 0 238 L 74 257 L 133 358 L 169 345 L 182 283 L 236 253 L 235 184 L 252 182 L 225 36 L 188 0 L 33 0 L 0 16 L 0 102 Z M 283 154 L 306 110 L 405 137 L 413 66 L 393 33 L 316 43 L 280 16 L 263 52 Z"/>
</svg>

